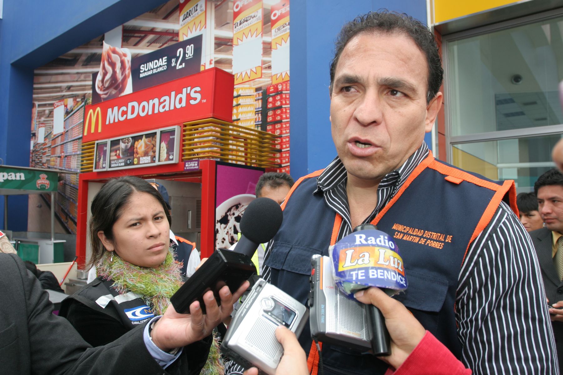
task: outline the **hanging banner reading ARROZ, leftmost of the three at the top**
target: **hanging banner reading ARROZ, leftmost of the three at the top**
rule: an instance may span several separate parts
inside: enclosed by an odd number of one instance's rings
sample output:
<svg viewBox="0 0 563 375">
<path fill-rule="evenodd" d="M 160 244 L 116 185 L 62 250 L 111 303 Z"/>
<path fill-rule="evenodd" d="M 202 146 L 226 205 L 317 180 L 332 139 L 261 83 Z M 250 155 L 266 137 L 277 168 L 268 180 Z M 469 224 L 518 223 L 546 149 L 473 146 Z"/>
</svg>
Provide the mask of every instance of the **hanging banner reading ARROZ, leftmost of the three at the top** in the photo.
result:
<svg viewBox="0 0 563 375">
<path fill-rule="evenodd" d="M 202 35 L 202 46 L 205 46 L 205 7 L 207 0 L 180 0 L 180 30 L 178 40 Z M 205 51 L 202 49 L 200 69 L 205 69 Z M 209 66 L 208 66 L 209 67 Z"/>
</svg>

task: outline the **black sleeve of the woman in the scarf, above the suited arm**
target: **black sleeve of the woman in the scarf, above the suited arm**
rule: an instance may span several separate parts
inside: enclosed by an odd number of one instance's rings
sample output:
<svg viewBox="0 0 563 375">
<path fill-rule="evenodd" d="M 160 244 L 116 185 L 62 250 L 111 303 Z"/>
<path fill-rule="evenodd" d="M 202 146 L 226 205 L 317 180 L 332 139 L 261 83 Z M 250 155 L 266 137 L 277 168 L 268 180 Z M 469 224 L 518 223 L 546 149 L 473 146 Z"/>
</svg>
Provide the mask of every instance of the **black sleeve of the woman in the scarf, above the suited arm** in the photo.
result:
<svg viewBox="0 0 563 375">
<path fill-rule="evenodd" d="M 76 300 L 70 301 L 66 319 L 92 346 L 109 344 L 129 331 L 121 322 Z"/>
</svg>

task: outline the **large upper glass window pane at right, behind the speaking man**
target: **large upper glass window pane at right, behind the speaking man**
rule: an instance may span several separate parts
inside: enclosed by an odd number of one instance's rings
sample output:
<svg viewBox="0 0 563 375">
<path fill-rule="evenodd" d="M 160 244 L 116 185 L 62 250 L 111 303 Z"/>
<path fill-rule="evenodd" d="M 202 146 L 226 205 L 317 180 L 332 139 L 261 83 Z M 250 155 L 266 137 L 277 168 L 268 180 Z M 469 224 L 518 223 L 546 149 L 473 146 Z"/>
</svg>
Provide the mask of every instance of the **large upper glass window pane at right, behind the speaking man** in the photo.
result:
<svg viewBox="0 0 563 375">
<path fill-rule="evenodd" d="M 451 135 L 563 124 L 563 18 L 447 44 Z"/>
</svg>

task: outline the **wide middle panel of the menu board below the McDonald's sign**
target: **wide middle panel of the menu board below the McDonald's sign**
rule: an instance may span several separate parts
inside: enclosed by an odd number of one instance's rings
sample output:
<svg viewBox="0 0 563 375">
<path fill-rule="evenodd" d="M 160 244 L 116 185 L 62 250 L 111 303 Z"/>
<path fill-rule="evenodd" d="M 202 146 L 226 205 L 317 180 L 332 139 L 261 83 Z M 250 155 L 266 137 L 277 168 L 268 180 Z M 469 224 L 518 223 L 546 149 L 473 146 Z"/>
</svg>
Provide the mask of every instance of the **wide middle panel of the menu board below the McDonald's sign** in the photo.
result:
<svg viewBox="0 0 563 375">
<path fill-rule="evenodd" d="M 110 140 L 109 168 L 153 164 L 157 161 L 157 132 Z"/>
</svg>

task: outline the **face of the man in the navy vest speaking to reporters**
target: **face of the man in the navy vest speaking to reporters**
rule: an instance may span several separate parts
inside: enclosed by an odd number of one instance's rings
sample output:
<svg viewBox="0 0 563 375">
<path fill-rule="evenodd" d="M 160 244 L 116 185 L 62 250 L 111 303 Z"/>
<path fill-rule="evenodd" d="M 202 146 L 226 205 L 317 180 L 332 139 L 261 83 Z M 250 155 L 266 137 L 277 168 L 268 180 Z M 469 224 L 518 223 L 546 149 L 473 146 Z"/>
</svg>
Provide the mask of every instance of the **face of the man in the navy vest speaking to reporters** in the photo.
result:
<svg viewBox="0 0 563 375">
<path fill-rule="evenodd" d="M 365 33 L 339 57 L 330 122 L 348 179 L 379 182 L 421 146 L 441 106 L 426 103 L 426 57 L 414 41 L 392 33 Z"/>
</svg>

